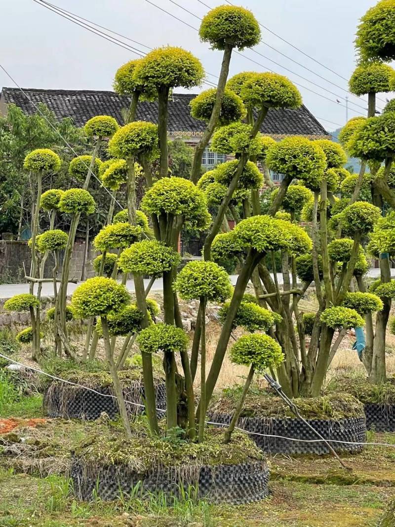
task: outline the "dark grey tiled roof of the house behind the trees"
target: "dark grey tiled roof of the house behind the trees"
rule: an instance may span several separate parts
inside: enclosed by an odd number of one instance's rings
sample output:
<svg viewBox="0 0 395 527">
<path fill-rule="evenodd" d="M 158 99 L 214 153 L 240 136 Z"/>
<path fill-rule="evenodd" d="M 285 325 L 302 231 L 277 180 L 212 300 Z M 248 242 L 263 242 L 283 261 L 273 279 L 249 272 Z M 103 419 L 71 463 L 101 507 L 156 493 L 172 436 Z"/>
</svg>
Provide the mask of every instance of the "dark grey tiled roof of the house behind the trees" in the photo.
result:
<svg viewBox="0 0 395 527">
<path fill-rule="evenodd" d="M 23 89 L 35 103 L 46 104 L 58 119 L 71 117 L 77 126 L 82 126 L 95 115 L 112 115 L 120 124 L 123 123 L 121 110 L 129 106 L 130 99 L 115 92 L 91 90 L 36 90 Z M 1 99 L 5 103 L 14 103 L 25 113 L 32 114 L 35 108 L 26 95 L 17 88 L 4 87 Z M 199 135 L 205 129 L 205 123 L 193 119 L 189 103 L 195 95 L 174 93 L 169 101 L 170 133 L 185 132 Z M 137 108 L 137 119 L 157 122 L 157 103 L 140 102 Z M 328 132 L 314 118 L 305 106 L 298 110 L 269 110 L 263 123 L 263 133 L 283 135 L 323 136 Z"/>
</svg>

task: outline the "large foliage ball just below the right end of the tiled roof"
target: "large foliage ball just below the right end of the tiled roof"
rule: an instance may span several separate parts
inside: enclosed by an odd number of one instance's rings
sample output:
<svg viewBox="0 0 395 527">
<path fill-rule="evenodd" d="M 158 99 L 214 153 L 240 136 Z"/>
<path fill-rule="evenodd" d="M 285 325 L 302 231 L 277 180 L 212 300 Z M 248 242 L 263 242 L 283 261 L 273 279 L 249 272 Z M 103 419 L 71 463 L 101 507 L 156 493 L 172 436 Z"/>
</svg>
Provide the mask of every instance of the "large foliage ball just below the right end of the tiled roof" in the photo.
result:
<svg viewBox="0 0 395 527">
<path fill-rule="evenodd" d="M 325 153 L 317 141 L 303 137 L 285 138 L 270 148 L 268 167 L 279 174 L 302 179 L 306 187 L 319 189 L 327 169 Z"/>
</svg>

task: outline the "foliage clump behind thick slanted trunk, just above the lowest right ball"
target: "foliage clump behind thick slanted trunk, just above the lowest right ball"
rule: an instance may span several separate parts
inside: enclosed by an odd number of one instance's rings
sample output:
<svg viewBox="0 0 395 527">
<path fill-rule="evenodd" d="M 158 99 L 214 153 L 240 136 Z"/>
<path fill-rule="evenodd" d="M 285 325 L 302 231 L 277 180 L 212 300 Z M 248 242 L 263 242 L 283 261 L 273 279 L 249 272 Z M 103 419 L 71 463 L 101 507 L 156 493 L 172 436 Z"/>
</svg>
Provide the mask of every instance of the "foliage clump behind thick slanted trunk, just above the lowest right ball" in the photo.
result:
<svg viewBox="0 0 395 527">
<path fill-rule="evenodd" d="M 226 317 L 228 316 L 230 302 L 225 302 L 219 311 L 219 317 L 222 324 L 225 323 Z M 242 301 L 238 312 L 233 320 L 232 327 L 238 326 L 243 327 L 250 333 L 254 331 L 269 331 L 270 328 L 278 322 L 278 317 L 281 316 L 269 309 L 259 306 L 255 302 Z"/>
</svg>

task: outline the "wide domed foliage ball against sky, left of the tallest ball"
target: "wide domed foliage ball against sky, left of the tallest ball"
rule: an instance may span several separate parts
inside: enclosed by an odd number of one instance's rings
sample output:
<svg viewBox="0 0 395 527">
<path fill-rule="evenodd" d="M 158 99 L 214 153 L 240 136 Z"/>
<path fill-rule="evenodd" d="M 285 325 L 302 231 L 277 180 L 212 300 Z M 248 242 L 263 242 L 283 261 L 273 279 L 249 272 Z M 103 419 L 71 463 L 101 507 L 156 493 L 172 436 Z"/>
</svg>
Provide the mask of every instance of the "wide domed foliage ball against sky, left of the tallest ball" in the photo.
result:
<svg viewBox="0 0 395 527">
<path fill-rule="evenodd" d="M 134 70 L 134 80 L 147 90 L 166 88 L 191 88 L 199 86 L 204 77 L 198 58 L 182 47 L 157 47 L 147 53 Z"/>
</svg>

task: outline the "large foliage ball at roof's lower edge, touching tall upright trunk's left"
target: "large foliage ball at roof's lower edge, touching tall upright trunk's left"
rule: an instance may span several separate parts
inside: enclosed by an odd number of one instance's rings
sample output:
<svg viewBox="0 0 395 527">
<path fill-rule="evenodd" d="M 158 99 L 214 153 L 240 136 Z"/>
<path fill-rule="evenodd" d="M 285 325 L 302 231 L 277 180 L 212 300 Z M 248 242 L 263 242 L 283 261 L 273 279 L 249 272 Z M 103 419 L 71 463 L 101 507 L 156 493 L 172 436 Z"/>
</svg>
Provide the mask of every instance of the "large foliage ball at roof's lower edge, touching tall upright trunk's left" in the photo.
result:
<svg viewBox="0 0 395 527">
<path fill-rule="evenodd" d="M 133 158 L 144 154 L 151 158 L 157 153 L 157 124 L 134 121 L 121 126 L 108 143 L 108 152 L 116 158 Z"/>
</svg>

